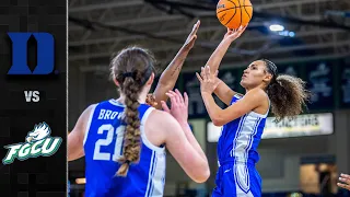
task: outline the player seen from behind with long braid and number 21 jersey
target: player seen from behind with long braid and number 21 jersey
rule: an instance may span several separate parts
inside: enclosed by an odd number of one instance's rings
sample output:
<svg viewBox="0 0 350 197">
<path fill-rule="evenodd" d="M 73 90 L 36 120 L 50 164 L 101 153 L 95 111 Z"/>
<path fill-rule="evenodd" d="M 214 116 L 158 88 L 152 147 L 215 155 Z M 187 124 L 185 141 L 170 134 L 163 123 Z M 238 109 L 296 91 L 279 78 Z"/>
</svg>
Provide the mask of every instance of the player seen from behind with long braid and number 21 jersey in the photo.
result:
<svg viewBox="0 0 350 197">
<path fill-rule="evenodd" d="M 121 50 L 110 61 L 119 99 L 89 106 L 69 134 L 68 160 L 85 155 L 85 196 L 163 196 L 165 148 L 191 179 L 208 179 L 208 160 L 187 123 L 187 94 L 165 92 L 172 85 L 162 84 L 154 94 L 161 91 L 171 97 L 171 109 L 165 102 L 160 102 L 164 111 L 145 103 L 153 65 L 153 56 L 143 48 Z M 163 78 L 174 80 L 167 73 Z"/>
</svg>

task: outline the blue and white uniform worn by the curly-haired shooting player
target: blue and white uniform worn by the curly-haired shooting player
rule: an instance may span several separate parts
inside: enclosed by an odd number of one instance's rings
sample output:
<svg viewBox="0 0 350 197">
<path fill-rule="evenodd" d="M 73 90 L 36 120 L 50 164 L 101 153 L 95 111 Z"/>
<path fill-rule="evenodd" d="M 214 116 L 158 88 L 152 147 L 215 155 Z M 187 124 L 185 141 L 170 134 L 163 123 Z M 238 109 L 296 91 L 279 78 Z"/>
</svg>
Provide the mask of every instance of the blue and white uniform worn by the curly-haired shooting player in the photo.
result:
<svg viewBox="0 0 350 197">
<path fill-rule="evenodd" d="M 242 99 L 234 95 L 231 105 Z M 212 196 L 260 197 L 261 178 L 255 169 L 257 147 L 264 131 L 265 115 L 250 112 L 223 126 L 218 142 L 218 163 Z"/>
</svg>

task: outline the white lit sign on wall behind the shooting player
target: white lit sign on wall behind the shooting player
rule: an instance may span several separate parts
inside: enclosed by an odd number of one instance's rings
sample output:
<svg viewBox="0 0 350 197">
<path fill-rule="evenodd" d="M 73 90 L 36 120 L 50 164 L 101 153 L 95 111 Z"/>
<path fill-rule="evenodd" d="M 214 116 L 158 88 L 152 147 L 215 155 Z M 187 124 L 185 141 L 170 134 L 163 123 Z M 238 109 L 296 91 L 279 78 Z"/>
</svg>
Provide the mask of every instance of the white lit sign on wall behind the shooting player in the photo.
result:
<svg viewBox="0 0 350 197">
<path fill-rule="evenodd" d="M 331 113 L 300 115 L 292 120 L 284 119 L 278 124 L 273 120 L 275 117 L 266 119 L 262 139 L 322 136 L 334 132 Z M 221 127 L 214 126 L 212 121 L 207 124 L 208 142 L 218 142 L 220 135 Z"/>
</svg>

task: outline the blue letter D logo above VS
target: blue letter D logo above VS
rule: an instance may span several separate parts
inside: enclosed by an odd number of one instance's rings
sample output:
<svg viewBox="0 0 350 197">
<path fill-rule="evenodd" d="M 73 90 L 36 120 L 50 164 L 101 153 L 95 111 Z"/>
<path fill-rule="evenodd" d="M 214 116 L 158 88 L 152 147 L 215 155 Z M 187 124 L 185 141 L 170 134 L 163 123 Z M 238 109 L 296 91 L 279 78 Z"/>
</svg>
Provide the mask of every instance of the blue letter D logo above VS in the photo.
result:
<svg viewBox="0 0 350 197">
<path fill-rule="evenodd" d="M 8 33 L 12 42 L 12 66 L 8 74 L 49 74 L 54 71 L 54 36 L 49 33 Z M 27 42 L 37 43 L 37 65 L 32 72 L 27 66 Z"/>
</svg>

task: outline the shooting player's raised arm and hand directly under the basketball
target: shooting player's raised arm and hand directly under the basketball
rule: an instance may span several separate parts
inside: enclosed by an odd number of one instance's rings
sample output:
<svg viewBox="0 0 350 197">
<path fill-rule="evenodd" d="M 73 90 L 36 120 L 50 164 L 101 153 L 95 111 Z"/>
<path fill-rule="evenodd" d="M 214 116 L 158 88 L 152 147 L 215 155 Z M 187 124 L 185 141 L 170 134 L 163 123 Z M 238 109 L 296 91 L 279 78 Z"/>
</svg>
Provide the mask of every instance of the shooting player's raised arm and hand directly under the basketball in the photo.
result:
<svg viewBox="0 0 350 197">
<path fill-rule="evenodd" d="M 214 73 L 221 63 L 221 60 L 223 56 L 226 54 L 230 45 L 232 42 L 234 42 L 236 38 L 238 38 L 242 33 L 245 31 L 246 27 L 241 26 L 238 30 L 232 31 L 228 28 L 228 33 L 224 35 L 224 38 L 219 44 L 217 49 L 212 53 L 209 60 L 207 61 L 207 66 L 210 67 L 211 73 Z M 230 86 L 228 86 L 224 82 L 222 82 L 220 79 L 215 79 L 219 83 L 219 85 L 215 88 L 214 93 L 215 95 L 226 105 L 230 105 L 230 102 L 232 100 L 232 96 L 236 94 Z"/>
</svg>

